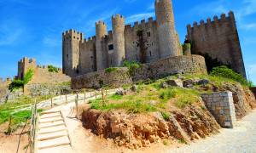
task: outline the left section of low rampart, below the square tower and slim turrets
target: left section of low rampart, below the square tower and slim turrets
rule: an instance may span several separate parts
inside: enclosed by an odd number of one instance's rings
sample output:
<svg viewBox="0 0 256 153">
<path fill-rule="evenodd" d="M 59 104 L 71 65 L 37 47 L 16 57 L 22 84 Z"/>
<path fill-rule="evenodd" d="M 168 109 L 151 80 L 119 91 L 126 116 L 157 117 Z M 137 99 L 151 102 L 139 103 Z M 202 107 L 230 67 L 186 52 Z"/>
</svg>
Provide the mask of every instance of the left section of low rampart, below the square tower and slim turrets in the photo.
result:
<svg viewBox="0 0 256 153">
<path fill-rule="evenodd" d="M 131 77 L 127 68 L 117 68 L 115 71 L 106 72 L 105 70 L 91 72 L 79 77 L 72 78 L 72 88 L 100 88 L 100 84 L 118 88 L 124 84 L 131 84 Z"/>
</svg>

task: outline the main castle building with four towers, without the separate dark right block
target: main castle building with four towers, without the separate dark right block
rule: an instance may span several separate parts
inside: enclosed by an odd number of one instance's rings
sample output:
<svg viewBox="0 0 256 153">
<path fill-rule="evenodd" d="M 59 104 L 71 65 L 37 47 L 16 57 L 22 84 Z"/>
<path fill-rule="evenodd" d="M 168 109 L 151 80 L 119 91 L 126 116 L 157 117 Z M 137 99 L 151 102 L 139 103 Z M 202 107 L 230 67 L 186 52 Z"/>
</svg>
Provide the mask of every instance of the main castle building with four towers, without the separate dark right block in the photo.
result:
<svg viewBox="0 0 256 153">
<path fill-rule="evenodd" d="M 149 18 L 134 26 L 125 25 L 125 18 L 112 17 L 113 31 L 103 21 L 96 22 L 96 36 L 84 39 L 79 31 L 62 34 L 63 72 L 76 77 L 108 67 L 120 66 L 124 60 L 151 63 L 182 55 L 175 30 L 172 1 L 155 1 L 156 20 Z"/>
</svg>

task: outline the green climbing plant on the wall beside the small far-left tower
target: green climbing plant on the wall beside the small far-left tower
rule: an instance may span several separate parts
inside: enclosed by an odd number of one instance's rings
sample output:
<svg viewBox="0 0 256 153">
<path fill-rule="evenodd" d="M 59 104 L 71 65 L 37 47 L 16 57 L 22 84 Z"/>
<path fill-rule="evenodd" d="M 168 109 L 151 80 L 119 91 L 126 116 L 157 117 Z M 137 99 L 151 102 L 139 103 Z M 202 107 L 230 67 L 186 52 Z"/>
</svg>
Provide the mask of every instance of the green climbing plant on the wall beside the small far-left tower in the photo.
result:
<svg viewBox="0 0 256 153">
<path fill-rule="evenodd" d="M 14 79 L 14 81 L 9 84 L 9 90 L 13 91 L 14 89 L 23 88 L 28 82 L 32 80 L 33 74 L 34 71 L 30 69 L 26 72 L 23 80 Z"/>
</svg>

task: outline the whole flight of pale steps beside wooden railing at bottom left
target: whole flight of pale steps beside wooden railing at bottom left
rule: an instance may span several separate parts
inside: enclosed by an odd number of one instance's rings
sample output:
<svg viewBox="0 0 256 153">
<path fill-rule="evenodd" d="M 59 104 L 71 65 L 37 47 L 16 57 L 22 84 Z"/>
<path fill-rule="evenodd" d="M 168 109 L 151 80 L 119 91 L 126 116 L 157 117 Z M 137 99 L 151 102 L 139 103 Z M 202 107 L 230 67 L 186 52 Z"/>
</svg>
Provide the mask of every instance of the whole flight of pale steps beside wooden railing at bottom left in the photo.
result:
<svg viewBox="0 0 256 153">
<path fill-rule="evenodd" d="M 61 111 L 46 111 L 38 118 L 36 152 L 73 152 Z"/>
</svg>

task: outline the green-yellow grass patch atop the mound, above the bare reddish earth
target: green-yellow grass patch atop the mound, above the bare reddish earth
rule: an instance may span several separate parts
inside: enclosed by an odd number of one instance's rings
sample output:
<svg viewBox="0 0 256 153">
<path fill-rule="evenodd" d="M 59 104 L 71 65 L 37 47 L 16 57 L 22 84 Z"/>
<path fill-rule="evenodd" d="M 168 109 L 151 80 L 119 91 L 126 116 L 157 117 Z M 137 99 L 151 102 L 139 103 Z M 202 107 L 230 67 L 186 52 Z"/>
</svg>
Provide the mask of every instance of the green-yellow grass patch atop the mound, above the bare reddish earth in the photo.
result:
<svg viewBox="0 0 256 153">
<path fill-rule="evenodd" d="M 193 89 L 160 88 L 160 83 L 164 80 L 147 82 L 147 84 L 138 82 L 137 93 L 107 96 L 106 105 L 102 104 L 102 99 L 90 100 L 90 108 L 101 111 L 125 110 L 130 113 L 160 111 L 163 118 L 169 120 L 166 112 L 170 103 L 183 109 L 198 100 L 200 94 Z"/>
</svg>

